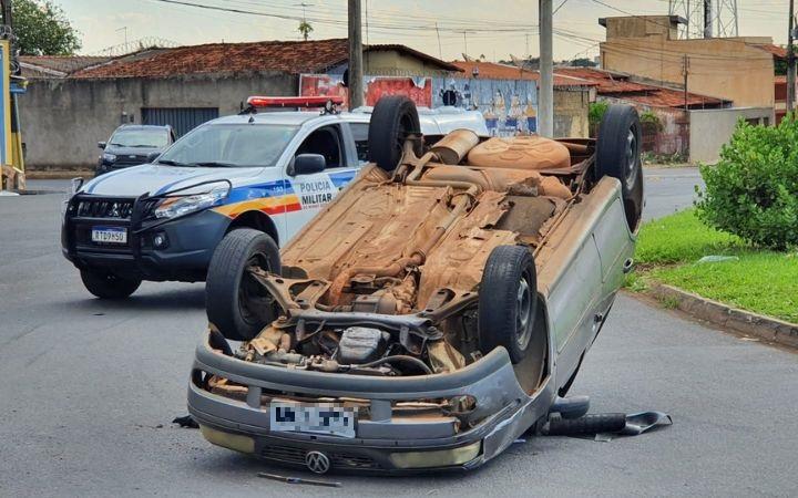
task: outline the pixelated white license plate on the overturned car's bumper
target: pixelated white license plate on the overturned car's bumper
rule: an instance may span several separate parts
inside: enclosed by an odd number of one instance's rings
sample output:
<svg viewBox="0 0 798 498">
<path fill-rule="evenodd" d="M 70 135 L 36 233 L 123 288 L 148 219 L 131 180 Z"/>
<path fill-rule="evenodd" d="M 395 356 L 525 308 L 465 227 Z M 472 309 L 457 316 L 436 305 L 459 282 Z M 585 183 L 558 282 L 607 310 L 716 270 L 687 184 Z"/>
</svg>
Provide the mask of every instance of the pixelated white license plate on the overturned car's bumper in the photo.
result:
<svg viewBox="0 0 798 498">
<path fill-rule="evenodd" d="M 272 403 L 269 422 L 273 432 L 355 437 L 355 409 L 330 403 Z"/>
</svg>

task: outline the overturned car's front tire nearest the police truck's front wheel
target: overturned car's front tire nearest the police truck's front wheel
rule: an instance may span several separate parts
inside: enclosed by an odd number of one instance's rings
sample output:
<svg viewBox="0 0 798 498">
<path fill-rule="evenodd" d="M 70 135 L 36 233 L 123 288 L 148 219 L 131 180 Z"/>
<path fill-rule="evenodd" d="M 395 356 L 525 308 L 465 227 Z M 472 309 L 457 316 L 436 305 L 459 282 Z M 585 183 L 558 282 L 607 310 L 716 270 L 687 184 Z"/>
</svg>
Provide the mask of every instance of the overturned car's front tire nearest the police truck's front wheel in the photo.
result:
<svg viewBox="0 0 798 498">
<path fill-rule="evenodd" d="M 211 258 L 205 311 L 226 339 L 248 341 L 275 318 L 274 300 L 247 272 L 252 264 L 273 273 L 280 269 L 277 243 L 250 228 L 227 234 Z"/>
</svg>

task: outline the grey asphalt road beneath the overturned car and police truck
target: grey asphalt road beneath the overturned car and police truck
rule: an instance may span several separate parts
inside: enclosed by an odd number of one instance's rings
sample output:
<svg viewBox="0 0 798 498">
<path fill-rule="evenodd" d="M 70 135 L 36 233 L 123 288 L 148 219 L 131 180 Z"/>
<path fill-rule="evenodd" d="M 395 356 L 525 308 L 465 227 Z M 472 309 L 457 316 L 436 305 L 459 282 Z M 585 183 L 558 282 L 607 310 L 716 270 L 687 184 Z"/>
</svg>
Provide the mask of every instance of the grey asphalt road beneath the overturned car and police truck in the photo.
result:
<svg viewBox="0 0 798 498">
<path fill-rule="evenodd" d="M 652 175 L 648 215 L 689 205 L 695 172 Z M 796 495 L 798 356 L 626 295 L 573 392 L 595 412 L 668 412 L 671 427 L 610 443 L 530 438 L 464 476 L 332 477 L 340 489 L 258 478 L 305 474 L 171 424 L 186 413 L 202 284 L 92 299 L 60 255 L 62 198 L 0 198 L 0 496 Z"/>
</svg>

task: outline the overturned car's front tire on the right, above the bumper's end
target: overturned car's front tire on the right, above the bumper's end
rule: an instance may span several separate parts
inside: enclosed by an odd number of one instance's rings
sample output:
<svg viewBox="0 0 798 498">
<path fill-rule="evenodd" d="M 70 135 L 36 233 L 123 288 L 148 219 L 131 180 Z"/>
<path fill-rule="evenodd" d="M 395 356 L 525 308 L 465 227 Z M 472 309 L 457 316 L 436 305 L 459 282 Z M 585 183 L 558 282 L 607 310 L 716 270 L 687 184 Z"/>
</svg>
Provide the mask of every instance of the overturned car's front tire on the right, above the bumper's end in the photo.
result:
<svg viewBox="0 0 798 498">
<path fill-rule="evenodd" d="M 482 353 L 504 346 L 510 360 L 526 355 L 538 311 L 538 276 L 530 251 L 499 246 L 491 251 L 479 288 L 479 340 Z"/>
</svg>

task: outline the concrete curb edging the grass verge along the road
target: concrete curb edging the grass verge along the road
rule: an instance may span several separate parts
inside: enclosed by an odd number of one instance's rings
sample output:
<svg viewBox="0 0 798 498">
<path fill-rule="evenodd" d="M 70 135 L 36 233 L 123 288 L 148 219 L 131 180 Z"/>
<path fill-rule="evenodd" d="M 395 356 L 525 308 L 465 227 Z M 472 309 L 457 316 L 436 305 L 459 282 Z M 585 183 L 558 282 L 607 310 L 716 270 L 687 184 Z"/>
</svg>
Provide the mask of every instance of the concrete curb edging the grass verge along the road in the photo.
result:
<svg viewBox="0 0 798 498">
<path fill-rule="evenodd" d="M 723 329 L 754 335 L 769 342 L 798 349 L 798 325 L 758 313 L 732 308 L 712 299 L 664 283 L 654 283 L 648 293 L 659 301 L 675 302 L 675 308 L 693 318 Z"/>
</svg>

